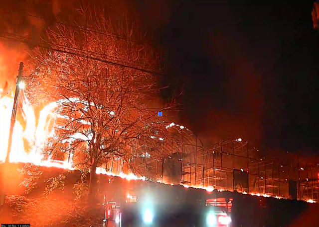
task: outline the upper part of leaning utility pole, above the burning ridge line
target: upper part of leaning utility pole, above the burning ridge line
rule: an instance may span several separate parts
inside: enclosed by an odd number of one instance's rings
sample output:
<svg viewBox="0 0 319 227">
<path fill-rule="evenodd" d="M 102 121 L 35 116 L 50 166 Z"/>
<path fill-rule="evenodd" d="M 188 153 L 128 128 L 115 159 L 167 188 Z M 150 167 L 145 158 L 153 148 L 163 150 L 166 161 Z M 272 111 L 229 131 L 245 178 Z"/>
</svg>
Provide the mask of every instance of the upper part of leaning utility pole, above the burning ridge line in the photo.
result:
<svg viewBox="0 0 319 227">
<path fill-rule="evenodd" d="M 17 107 L 17 103 L 18 103 L 20 89 L 23 88 L 23 87 L 21 87 L 21 84 L 22 84 L 21 83 L 22 70 L 23 70 L 23 62 L 20 63 L 19 73 L 18 73 L 18 76 L 17 76 L 16 86 L 15 86 L 15 94 L 14 94 L 14 101 L 13 101 L 12 115 L 11 115 L 11 122 L 10 122 L 8 148 L 7 148 L 7 151 L 6 151 L 5 163 L 9 163 L 9 155 L 10 155 L 11 144 L 12 144 L 13 127 L 14 127 L 14 124 L 15 124 L 16 107 Z"/>
</svg>

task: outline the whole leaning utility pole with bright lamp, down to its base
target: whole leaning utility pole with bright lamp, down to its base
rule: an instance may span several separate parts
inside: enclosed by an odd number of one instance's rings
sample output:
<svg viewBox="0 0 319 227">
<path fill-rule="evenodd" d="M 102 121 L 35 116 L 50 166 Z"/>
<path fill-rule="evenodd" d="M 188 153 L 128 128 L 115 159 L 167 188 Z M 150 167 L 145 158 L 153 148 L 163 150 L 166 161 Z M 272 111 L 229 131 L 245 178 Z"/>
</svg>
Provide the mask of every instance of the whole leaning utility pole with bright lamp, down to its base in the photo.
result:
<svg viewBox="0 0 319 227">
<path fill-rule="evenodd" d="M 8 148 L 6 151 L 6 156 L 5 156 L 5 162 L 2 165 L 2 188 L 1 188 L 1 196 L 0 196 L 0 206 L 2 208 L 2 205 L 5 200 L 5 195 L 6 195 L 6 173 L 8 171 L 8 163 L 9 163 L 9 155 L 10 155 L 10 150 L 11 150 L 11 143 L 12 143 L 12 133 L 13 133 L 13 128 L 15 124 L 15 116 L 16 116 L 16 107 L 17 107 L 17 102 L 18 102 L 18 97 L 19 97 L 19 92 L 20 89 L 24 88 L 24 83 L 22 82 L 22 70 L 23 70 L 23 62 L 20 63 L 19 67 L 19 73 L 17 76 L 17 81 L 16 81 L 16 87 L 15 87 L 15 94 L 14 94 L 14 101 L 13 101 L 13 108 L 12 108 L 12 115 L 11 115 L 11 122 L 10 122 L 10 131 L 9 131 L 9 139 L 8 139 Z"/>
</svg>

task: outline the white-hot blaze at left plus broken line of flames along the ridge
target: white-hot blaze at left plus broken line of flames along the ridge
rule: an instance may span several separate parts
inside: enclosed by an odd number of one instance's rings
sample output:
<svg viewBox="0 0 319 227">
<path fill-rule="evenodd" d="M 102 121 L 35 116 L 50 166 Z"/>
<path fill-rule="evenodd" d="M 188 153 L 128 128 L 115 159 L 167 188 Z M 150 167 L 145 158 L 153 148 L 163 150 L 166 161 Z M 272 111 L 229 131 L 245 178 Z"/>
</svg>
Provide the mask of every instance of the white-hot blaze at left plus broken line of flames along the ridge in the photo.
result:
<svg viewBox="0 0 319 227">
<path fill-rule="evenodd" d="M 10 118 L 13 106 L 13 92 L 10 95 L 3 94 L 3 89 L 0 88 L 0 119 L 3 123 L 0 129 L 0 162 L 5 160 L 7 145 L 8 145 L 8 132 L 10 128 Z M 10 162 L 33 163 L 36 165 L 47 167 L 58 167 L 64 169 L 72 168 L 72 163 L 68 160 L 58 161 L 50 157 L 43 159 L 41 149 L 43 148 L 48 137 L 53 135 L 53 126 L 56 119 L 55 110 L 58 107 L 57 102 L 52 102 L 44 106 L 42 109 L 35 110 L 26 98 L 23 90 L 19 98 L 18 112 L 21 113 L 14 125 L 12 135 L 12 145 L 9 156 Z M 35 111 L 39 111 L 38 119 L 36 119 Z M 97 168 L 97 174 L 116 175 L 107 172 L 103 168 Z M 117 176 L 127 180 L 146 180 L 145 177 L 138 177 L 134 174 L 120 173 Z M 185 188 L 195 187 L 183 185 Z M 214 190 L 213 187 L 195 187 L 201 188 L 208 192 Z M 220 190 L 222 191 L 222 190 Z M 243 194 L 247 194 L 243 192 Z M 253 194 L 255 196 L 270 197 L 267 194 Z M 276 196 L 275 198 L 280 199 Z M 314 203 L 309 200 L 308 202 Z"/>
</svg>

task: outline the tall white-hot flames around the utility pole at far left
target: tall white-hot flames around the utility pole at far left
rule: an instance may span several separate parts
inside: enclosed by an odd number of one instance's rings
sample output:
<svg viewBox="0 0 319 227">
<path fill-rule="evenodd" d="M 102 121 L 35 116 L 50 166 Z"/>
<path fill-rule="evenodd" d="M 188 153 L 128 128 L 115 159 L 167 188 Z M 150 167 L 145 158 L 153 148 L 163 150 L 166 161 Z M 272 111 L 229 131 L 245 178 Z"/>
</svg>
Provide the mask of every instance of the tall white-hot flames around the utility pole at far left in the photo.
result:
<svg viewBox="0 0 319 227">
<path fill-rule="evenodd" d="M 1 90 L 2 91 L 2 90 Z M 35 114 L 32 106 L 29 105 L 28 100 L 21 94 L 22 106 L 18 105 L 18 111 L 22 110 L 23 119 L 17 119 L 13 127 L 12 144 L 10 150 L 10 162 L 29 162 L 38 165 L 52 166 L 48 161 L 41 161 L 43 155 L 39 150 L 43 147 L 48 134 L 47 118 L 52 118 L 52 109 L 56 106 L 55 103 L 50 103 L 41 111 L 36 126 Z M 0 119 L 4 126 L 0 129 L 0 161 L 4 161 L 6 150 L 8 146 L 8 132 L 10 128 L 10 119 L 13 106 L 13 93 L 10 96 L 2 96 L 0 93 Z M 19 112 L 20 112 L 19 111 Z M 23 127 L 24 126 L 24 127 Z M 25 142 L 31 144 L 30 149 L 26 149 Z M 59 164 L 53 164 L 59 166 Z M 65 167 L 61 163 L 61 167 Z"/>
</svg>

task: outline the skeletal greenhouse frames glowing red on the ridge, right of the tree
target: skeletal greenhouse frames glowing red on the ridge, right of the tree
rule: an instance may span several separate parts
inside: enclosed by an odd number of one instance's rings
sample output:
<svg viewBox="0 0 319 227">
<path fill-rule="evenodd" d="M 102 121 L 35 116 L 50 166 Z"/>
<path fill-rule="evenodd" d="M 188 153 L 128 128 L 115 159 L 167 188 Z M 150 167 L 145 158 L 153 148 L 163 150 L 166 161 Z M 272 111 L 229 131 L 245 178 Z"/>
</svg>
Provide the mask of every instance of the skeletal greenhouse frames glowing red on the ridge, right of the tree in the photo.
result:
<svg viewBox="0 0 319 227">
<path fill-rule="evenodd" d="M 186 187 L 263 194 L 280 198 L 318 201 L 319 162 L 293 153 L 283 157 L 260 157 L 257 148 L 240 138 L 225 139 L 205 147 L 194 133 L 184 126 L 166 124 L 174 139 L 157 140 L 149 146 L 139 140 L 133 150 L 135 165 L 147 169 L 149 179 Z M 127 163 L 113 158 L 108 163 L 114 174 L 129 172 Z"/>
</svg>

